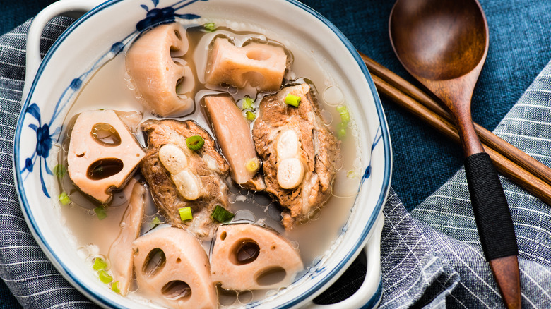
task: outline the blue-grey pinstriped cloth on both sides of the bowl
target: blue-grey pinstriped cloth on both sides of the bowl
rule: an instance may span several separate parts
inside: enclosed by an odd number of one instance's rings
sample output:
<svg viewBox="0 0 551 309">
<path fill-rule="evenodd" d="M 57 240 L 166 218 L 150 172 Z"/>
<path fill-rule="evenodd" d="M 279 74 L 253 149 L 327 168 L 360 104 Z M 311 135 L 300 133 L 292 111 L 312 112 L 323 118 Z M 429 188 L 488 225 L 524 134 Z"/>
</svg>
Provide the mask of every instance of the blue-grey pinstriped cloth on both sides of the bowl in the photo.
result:
<svg viewBox="0 0 551 309">
<path fill-rule="evenodd" d="M 55 18 L 43 32 L 46 51 L 71 20 Z M 25 224 L 13 181 L 13 135 L 20 114 L 29 22 L 0 37 L 0 277 L 25 308 L 95 308 L 54 269 Z M 551 165 L 551 63 L 495 133 Z M 522 305 L 551 308 L 551 208 L 501 178 L 519 243 Z M 384 206 L 380 308 L 500 308 L 482 255 L 465 172 L 459 170 L 408 213 L 391 190 Z M 331 294 L 350 293 L 356 274 Z M 322 296 L 321 298 L 331 298 Z"/>
</svg>

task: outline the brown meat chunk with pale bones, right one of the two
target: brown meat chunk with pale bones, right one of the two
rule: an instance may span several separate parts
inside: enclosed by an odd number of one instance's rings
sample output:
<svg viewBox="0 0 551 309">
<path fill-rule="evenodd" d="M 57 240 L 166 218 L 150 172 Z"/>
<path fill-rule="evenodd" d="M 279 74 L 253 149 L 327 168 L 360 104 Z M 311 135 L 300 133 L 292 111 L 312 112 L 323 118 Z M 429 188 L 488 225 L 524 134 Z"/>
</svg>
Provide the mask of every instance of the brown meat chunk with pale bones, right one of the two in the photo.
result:
<svg viewBox="0 0 551 309">
<path fill-rule="evenodd" d="M 285 103 L 288 95 L 300 97 L 298 107 Z M 340 142 L 322 121 L 307 84 L 264 97 L 259 109 L 253 139 L 263 161 L 266 190 L 285 208 L 283 225 L 292 229 L 331 197 Z"/>
</svg>

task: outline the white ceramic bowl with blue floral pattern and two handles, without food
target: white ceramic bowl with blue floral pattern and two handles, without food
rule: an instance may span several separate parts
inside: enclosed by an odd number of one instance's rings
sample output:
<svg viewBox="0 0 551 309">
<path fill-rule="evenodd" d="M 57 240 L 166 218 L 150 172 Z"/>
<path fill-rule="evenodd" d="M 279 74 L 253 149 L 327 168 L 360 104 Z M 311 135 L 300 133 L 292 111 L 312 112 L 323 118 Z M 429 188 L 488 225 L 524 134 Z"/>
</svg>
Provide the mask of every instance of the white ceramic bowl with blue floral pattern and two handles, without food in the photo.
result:
<svg viewBox="0 0 551 309">
<path fill-rule="evenodd" d="M 136 25 L 155 18 L 230 16 L 262 25 L 288 42 L 314 51 L 345 93 L 350 114 L 360 132 L 363 177 L 348 222 L 330 253 L 308 265 L 307 272 L 285 293 L 248 304 L 248 308 L 291 308 L 312 305 L 365 248 L 367 275 L 355 295 L 338 308 L 372 308 L 381 297 L 380 236 L 382 206 L 391 179 L 391 143 L 381 102 L 367 68 L 344 35 L 319 13 L 295 0 L 61 0 L 32 23 L 28 37 L 28 67 L 23 113 L 15 143 L 14 171 L 23 214 L 37 242 L 61 274 L 88 298 L 105 308 L 140 308 L 102 284 L 84 267 L 65 241 L 50 183 L 52 143 L 71 102 L 97 68 L 120 52 L 137 33 Z M 164 11 L 161 8 L 168 8 Z M 147 11 L 146 11 L 147 10 Z M 66 12 L 88 12 L 64 32 L 41 61 L 40 33 L 47 20 Z M 162 12 L 165 12 L 164 16 Z M 141 26 L 138 25 L 138 28 Z M 266 31 L 268 31 L 266 30 Z M 267 35 L 270 37 L 270 34 Z M 34 79 L 33 79 L 34 78 Z M 25 141 L 22 143 L 21 141 Z"/>
</svg>

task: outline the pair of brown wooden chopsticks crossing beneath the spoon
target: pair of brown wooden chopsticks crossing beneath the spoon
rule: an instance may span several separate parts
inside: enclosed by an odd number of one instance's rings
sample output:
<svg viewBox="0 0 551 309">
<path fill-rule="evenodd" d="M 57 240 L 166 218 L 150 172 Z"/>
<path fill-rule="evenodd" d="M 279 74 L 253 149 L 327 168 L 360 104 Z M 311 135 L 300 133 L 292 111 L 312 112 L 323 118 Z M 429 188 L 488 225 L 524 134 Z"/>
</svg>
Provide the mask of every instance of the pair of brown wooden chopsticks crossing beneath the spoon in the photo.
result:
<svg viewBox="0 0 551 309">
<path fill-rule="evenodd" d="M 379 63 L 373 61 L 372 59 L 369 59 L 364 54 L 360 53 L 360 55 L 362 56 L 362 59 L 364 59 L 367 68 L 369 68 L 370 72 L 372 73 L 374 83 L 377 86 L 377 90 L 379 91 L 379 93 L 386 95 L 386 97 L 389 97 L 389 99 L 391 99 L 393 102 L 396 102 L 415 116 L 418 116 L 426 123 L 429 123 L 429 125 L 437 128 L 438 131 L 444 133 L 444 135 L 448 136 L 452 140 L 455 140 L 456 143 L 461 143 L 456 127 L 454 126 L 454 124 L 451 123 L 451 117 L 449 116 L 449 114 L 447 114 L 447 111 L 442 109 L 442 107 L 437 104 L 434 99 L 428 97 L 417 87 L 403 80 L 395 73 L 392 73 L 388 69 L 384 68 L 384 66 L 381 66 Z M 375 65 L 377 65 L 377 67 L 375 67 Z M 389 75 L 395 75 L 392 76 L 392 84 L 387 81 L 389 80 Z M 398 89 L 396 83 L 402 85 L 400 89 Z M 410 88 L 410 91 L 401 91 L 403 87 Z M 414 95 L 411 95 L 412 92 L 420 93 L 417 93 L 414 99 Z M 422 97 L 425 98 L 423 100 L 420 100 L 419 98 Z M 427 103 L 428 106 L 421 104 L 420 102 L 422 101 L 426 101 L 423 103 Z M 439 111 L 433 111 L 432 108 Z M 442 111 L 444 111 L 447 116 Z M 482 128 L 481 126 L 478 127 Z M 490 135 L 494 135 L 490 131 L 487 132 Z M 477 131 L 477 133 L 479 132 Z M 498 138 L 496 135 L 494 136 L 495 138 Z M 482 140 L 482 136 L 480 136 L 480 138 Z M 495 138 L 490 137 L 490 139 Z M 502 140 L 501 138 L 498 139 Z M 551 181 L 546 182 L 542 179 L 544 177 L 539 178 L 537 176 L 540 174 L 549 176 L 551 175 L 551 170 L 547 166 L 541 164 L 524 152 L 519 155 L 516 152 L 521 152 L 521 150 L 509 143 L 506 143 L 504 140 L 502 140 L 502 142 L 506 145 L 497 142 L 497 145 L 500 145 L 500 147 L 493 148 L 490 146 L 493 144 L 487 143 L 486 140 L 482 140 L 482 146 L 484 147 L 485 152 L 490 155 L 490 158 L 492 159 L 492 162 L 494 162 L 494 166 L 496 167 L 497 171 L 499 171 L 499 173 L 503 174 L 504 176 L 507 176 L 509 179 L 511 179 L 511 181 L 514 181 L 514 183 L 523 187 L 525 190 L 540 198 L 547 204 L 551 204 L 551 185 L 549 184 L 551 183 Z M 512 150 L 511 152 L 515 152 L 515 155 L 512 156 L 512 158 L 516 160 L 515 162 L 511 161 L 511 157 L 507 155 L 509 154 L 509 148 L 514 148 L 514 150 Z M 526 160 L 526 157 L 537 163 L 532 162 L 530 164 L 527 164 L 526 162 L 524 162 Z M 517 161 L 521 162 L 522 164 L 517 163 Z M 531 166 L 531 169 L 537 170 L 538 173 L 531 173 L 531 171 L 525 169 L 524 166 Z M 551 177 L 545 178 L 551 179 Z"/>
</svg>

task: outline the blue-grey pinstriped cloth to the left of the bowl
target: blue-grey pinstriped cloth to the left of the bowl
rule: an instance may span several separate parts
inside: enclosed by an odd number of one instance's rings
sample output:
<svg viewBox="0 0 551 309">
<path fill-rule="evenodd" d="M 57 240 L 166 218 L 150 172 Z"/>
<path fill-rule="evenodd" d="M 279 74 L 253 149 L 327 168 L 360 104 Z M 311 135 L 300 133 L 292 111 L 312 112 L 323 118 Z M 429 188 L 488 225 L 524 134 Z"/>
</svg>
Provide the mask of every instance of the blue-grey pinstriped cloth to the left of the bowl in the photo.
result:
<svg viewBox="0 0 551 309">
<path fill-rule="evenodd" d="M 52 20 L 43 34 L 42 51 L 70 24 L 68 18 Z M 57 272 L 32 238 L 13 182 L 13 135 L 21 109 L 29 25 L 0 37 L 0 277 L 25 308 L 95 308 Z"/>
</svg>

